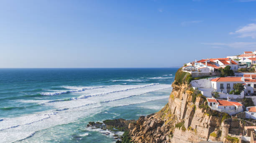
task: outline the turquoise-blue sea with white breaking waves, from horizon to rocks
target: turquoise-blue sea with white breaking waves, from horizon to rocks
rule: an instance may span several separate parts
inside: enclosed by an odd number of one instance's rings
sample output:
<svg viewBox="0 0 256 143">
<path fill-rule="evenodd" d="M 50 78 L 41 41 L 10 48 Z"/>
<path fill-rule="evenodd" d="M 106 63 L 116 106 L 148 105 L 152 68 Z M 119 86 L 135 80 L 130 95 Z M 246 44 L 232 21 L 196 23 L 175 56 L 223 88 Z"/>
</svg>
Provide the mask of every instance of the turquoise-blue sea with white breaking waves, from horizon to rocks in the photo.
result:
<svg viewBox="0 0 256 143">
<path fill-rule="evenodd" d="M 113 133 L 86 128 L 87 123 L 159 111 L 176 71 L 0 69 L 0 142 L 115 142 Z"/>
</svg>

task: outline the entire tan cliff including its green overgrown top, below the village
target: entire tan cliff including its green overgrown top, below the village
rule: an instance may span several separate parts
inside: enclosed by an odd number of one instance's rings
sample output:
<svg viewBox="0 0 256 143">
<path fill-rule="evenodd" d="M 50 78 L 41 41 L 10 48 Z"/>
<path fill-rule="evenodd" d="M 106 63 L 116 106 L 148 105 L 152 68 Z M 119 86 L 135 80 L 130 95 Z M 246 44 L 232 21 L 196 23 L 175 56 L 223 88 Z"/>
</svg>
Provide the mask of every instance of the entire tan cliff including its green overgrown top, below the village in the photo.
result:
<svg viewBox="0 0 256 143">
<path fill-rule="evenodd" d="M 200 92 L 191 88 L 191 76 L 177 72 L 168 104 L 159 112 L 141 116 L 129 124 L 135 143 L 198 143 L 228 141 L 228 133 L 239 135 L 250 125 L 226 113 L 212 111 Z M 177 77 L 178 76 L 178 77 Z M 231 137 L 230 137 L 231 138 Z"/>
</svg>

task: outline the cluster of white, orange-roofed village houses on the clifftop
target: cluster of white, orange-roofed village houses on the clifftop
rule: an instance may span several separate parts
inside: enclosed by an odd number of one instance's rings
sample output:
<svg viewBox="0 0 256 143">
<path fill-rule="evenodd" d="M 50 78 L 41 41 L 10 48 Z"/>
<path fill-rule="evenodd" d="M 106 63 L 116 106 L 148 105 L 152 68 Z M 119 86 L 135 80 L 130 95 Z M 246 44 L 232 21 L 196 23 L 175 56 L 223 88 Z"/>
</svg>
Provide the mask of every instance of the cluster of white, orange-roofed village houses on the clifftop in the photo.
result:
<svg viewBox="0 0 256 143">
<path fill-rule="evenodd" d="M 190 84 L 193 89 L 206 97 L 208 106 L 215 111 L 228 113 L 239 118 L 256 119 L 256 106 L 245 107 L 238 99 L 251 98 L 256 105 L 256 51 L 246 51 L 238 56 L 225 58 L 201 59 L 189 62 L 182 67 L 194 79 Z M 233 70 L 233 76 L 223 76 L 225 67 Z M 227 68 L 226 68 L 227 69 Z M 202 78 L 203 77 L 203 78 Z M 243 89 L 235 93 L 236 84 Z M 250 142 L 250 136 L 256 133 L 256 126 L 244 128 L 245 138 Z M 255 139 L 255 137 L 253 136 Z M 256 139 L 253 143 L 256 143 Z"/>
</svg>

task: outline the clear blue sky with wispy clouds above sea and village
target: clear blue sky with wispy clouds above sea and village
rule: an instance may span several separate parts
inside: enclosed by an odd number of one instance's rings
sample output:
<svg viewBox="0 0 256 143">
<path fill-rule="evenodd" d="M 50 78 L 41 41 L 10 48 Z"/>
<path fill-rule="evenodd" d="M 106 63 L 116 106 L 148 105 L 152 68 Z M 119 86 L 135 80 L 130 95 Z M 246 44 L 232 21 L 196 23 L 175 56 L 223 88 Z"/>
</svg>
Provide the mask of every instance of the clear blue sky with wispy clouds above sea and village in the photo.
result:
<svg viewBox="0 0 256 143">
<path fill-rule="evenodd" d="M 0 68 L 181 67 L 256 50 L 256 0 L 1 0 Z"/>
</svg>

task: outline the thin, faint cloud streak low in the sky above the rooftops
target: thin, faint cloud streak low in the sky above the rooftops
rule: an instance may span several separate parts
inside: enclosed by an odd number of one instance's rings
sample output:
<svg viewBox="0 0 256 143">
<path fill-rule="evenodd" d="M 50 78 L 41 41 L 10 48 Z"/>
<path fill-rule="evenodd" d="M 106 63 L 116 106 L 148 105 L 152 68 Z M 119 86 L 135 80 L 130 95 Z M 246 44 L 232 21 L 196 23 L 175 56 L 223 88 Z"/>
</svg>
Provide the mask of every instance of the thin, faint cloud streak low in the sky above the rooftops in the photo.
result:
<svg viewBox="0 0 256 143">
<path fill-rule="evenodd" d="M 256 48 L 256 42 L 233 42 L 233 43 L 201 43 L 210 45 L 212 48 Z"/>
</svg>

